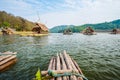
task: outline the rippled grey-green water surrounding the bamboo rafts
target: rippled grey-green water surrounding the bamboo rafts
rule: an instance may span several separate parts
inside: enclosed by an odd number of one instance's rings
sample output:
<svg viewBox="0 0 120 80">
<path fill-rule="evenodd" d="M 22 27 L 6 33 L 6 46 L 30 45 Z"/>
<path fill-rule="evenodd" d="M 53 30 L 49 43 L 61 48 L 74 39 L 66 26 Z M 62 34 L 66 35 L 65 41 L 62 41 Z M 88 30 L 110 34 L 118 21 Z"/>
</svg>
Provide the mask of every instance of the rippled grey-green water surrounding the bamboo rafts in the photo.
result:
<svg viewBox="0 0 120 80">
<path fill-rule="evenodd" d="M 47 70 L 49 60 L 66 50 L 89 80 L 120 80 L 120 35 L 63 35 L 43 37 L 0 36 L 0 52 L 17 52 L 18 61 L 0 73 L 0 80 L 32 80 L 38 67 Z"/>
</svg>

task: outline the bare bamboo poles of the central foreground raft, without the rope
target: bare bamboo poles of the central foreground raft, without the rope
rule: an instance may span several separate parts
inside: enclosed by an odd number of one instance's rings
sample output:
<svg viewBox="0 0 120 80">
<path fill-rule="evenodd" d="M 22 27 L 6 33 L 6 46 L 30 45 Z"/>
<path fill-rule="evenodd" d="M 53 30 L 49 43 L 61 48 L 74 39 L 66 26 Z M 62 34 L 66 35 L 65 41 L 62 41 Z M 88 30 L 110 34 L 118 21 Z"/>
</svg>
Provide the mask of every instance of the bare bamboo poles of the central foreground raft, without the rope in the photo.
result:
<svg viewBox="0 0 120 80">
<path fill-rule="evenodd" d="M 73 58 L 69 56 L 69 54 L 66 53 L 66 51 L 63 52 L 63 54 L 59 54 L 56 57 L 52 57 L 48 66 L 48 71 L 41 71 L 42 75 L 49 75 L 49 70 L 52 70 L 54 74 L 67 74 L 67 73 L 76 73 L 80 74 L 82 76 L 76 76 L 76 75 L 64 75 L 60 77 L 52 77 L 51 79 L 45 79 L 45 80 L 87 80 L 87 78 L 84 77 L 81 69 L 79 68 L 79 65 L 76 63 Z M 84 78 L 83 78 L 84 77 Z M 44 80 L 44 79 L 43 79 Z"/>
</svg>

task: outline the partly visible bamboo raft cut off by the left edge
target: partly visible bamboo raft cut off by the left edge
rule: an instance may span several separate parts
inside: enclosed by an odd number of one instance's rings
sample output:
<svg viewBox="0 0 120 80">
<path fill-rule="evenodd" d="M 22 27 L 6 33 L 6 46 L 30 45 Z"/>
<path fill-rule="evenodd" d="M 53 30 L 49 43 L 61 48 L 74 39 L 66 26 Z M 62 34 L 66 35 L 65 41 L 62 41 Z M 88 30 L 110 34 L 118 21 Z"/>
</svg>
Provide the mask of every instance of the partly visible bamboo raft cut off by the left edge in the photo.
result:
<svg viewBox="0 0 120 80">
<path fill-rule="evenodd" d="M 16 52 L 0 53 L 0 72 L 5 71 L 17 61 Z"/>
</svg>

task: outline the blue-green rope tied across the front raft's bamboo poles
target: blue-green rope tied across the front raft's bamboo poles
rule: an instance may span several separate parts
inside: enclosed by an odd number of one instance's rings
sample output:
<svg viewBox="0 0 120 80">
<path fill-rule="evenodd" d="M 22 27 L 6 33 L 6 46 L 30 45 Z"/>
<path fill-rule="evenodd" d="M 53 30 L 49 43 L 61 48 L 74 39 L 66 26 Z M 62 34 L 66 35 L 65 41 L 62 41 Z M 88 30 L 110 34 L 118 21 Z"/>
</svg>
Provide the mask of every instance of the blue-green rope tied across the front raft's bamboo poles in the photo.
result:
<svg viewBox="0 0 120 80">
<path fill-rule="evenodd" d="M 52 70 L 48 70 L 48 75 L 49 76 L 53 76 L 53 77 L 61 77 L 61 76 L 71 76 L 71 75 L 75 75 L 77 77 L 82 77 L 83 80 L 88 80 L 84 75 L 79 74 L 79 73 L 75 73 L 75 72 L 65 72 L 63 74 L 57 74 L 54 73 Z"/>
</svg>

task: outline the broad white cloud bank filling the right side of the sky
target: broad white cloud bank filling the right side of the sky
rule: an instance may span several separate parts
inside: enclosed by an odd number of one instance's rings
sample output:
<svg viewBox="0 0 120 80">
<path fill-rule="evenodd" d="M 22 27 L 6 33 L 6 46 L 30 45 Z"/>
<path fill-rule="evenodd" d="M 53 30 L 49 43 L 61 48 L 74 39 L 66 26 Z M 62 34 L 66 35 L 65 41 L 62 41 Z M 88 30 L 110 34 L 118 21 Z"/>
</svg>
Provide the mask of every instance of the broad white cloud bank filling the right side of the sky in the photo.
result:
<svg viewBox="0 0 120 80">
<path fill-rule="evenodd" d="M 71 2 L 68 2 L 68 4 L 72 4 Z M 42 19 L 48 22 L 47 25 L 49 27 L 53 27 L 62 24 L 81 25 L 86 23 L 101 23 L 120 18 L 119 0 L 82 0 L 81 3 L 83 5 L 82 8 L 80 7 L 77 10 L 72 9 L 69 12 L 63 11 L 62 13 L 45 14 L 42 15 Z"/>
</svg>

